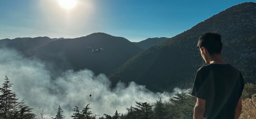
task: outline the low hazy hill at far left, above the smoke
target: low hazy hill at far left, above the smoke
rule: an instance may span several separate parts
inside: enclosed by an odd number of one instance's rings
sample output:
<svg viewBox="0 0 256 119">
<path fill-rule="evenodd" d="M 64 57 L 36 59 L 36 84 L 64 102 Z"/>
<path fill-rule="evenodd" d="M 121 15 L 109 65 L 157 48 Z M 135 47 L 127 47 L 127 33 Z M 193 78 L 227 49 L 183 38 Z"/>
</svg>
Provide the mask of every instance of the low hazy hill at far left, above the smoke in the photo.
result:
<svg viewBox="0 0 256 119">
<path fill-rule="evenodd" d="M 2 39 L 0 40 L 0 47 L 9 47 L 21 52 L 26 52 L 45 45 L 51 41 L 52 39 L 49 37 Z"/>
</svg>

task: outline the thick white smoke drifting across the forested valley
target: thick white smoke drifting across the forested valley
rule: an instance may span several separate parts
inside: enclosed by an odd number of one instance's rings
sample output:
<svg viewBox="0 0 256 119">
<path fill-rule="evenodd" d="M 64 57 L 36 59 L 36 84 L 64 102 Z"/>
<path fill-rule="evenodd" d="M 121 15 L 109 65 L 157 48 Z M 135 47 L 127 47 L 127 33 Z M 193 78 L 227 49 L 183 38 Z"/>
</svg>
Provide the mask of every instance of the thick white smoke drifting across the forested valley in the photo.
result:
<svg viewBox="0 0 256 119">
<path fill-rule="evenodd" d="M 81 110 L 89 103 L 93 114 L 113 115 L 115 110 L 125 113 L 126 108 L 135 105 L 135 101 L 154 104 L 162 97 L 167 102 L 174 93 L 187 92 L 175 88 L 173 93 L 153 93 L 135 82 L 130 82 L 127 87 L 119 82 L 111 90 L 111 81 L 104 74 L 94 76 L 88 69 L 67 70 L 53 79 L 44 63 L 18 54 L 13 49 L 0 49 L 0 83 L 7 75 L 14 83 L 11 89 L 20 97 L 20 101 L 24 99 L 38 116 L 44 109 L 46 119 L 55 116 L 58 105 L 61 105 L 67 119 L 73 114 L 75 106 Z M 92 97 L 89 97 L 92 80 Z"/>
</svg>

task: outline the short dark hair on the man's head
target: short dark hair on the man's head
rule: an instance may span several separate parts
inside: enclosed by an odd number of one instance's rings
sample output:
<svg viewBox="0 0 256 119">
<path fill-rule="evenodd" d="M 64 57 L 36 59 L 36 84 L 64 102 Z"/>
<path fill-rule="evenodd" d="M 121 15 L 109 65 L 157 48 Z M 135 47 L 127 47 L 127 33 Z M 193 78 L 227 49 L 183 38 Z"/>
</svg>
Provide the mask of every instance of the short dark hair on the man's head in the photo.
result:
<svg viewBox="0 0 256 119">
<path fill-rule="evenodd" d="M 222 49 L 221 36 L 217 32 L 203 34 L 197 43 L 197 48 L 205 47 L 210 55 L 220 54 Z"/>
</svg>

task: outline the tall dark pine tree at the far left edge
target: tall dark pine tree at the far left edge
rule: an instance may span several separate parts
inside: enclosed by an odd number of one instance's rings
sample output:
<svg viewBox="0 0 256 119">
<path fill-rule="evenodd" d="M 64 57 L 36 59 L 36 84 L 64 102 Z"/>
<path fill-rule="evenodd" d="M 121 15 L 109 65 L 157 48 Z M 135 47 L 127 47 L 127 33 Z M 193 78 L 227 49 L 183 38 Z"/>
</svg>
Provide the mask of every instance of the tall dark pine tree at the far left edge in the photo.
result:
<svg viewBox="0 0 256 119">
<path fill-rule="evenodd" d="M 16 94 L 10 90 L 12 83 L 5 76 L 2 88 L 0 88 L 0 118 L 8 119 L 12 117 L 12 109 L 17 101 Z"/>
</svg>

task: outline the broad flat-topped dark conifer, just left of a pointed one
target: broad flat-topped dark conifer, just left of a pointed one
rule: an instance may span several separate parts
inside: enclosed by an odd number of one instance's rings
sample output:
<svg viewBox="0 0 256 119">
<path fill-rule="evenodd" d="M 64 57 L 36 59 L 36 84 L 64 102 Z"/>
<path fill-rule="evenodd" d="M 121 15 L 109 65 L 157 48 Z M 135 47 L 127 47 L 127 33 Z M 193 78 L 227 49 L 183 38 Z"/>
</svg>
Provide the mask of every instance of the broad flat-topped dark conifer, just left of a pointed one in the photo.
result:
<svg viewBox="0 0 256 119">
<path fill-rule="evenodd" d="M 149 103 L 138 103 L 136 102 L 136 107 L 133 107 L 136 113 L 136 119 L 152 119 L 153 118 L 153 111 L 152 106 Z"/>
</svg>

